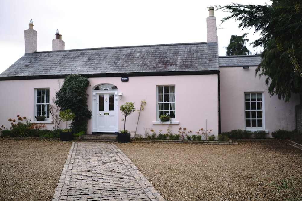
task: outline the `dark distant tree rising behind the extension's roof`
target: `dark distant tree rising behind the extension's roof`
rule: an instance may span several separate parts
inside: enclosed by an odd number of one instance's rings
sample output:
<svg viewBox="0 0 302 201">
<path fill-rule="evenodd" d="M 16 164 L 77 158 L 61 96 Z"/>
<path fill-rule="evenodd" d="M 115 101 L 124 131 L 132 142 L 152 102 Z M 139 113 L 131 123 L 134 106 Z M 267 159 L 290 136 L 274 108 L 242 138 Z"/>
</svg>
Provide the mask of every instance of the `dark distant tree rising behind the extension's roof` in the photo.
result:
<svg viewBox="0 0 302 201">
<path fill-rule="evenodd" d="M 247 33 L 242 36 L 232 35 L 230 44 L 226 47 L 226 55 L 250 55 L 251 52 L 245 46 L 245 43 L 249 42 L 249 39 L 244 38 L 246 35 Z"/>
</svg>

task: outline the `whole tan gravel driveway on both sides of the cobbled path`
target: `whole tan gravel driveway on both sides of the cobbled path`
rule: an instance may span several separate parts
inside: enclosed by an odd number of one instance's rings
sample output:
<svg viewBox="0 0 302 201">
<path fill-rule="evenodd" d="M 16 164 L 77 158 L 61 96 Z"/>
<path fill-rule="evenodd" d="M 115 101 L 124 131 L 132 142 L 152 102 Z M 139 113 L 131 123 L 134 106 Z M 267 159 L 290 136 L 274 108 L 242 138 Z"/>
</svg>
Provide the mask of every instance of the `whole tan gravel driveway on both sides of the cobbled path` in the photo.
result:
<svg viewBox="0 0 302 201">
<path fill-rule="evenodd" d="M 301 201 L 302 151 L 285 142 L 116 145 L 167 201 Z M 51 200 L 70 146 L 0 139 L 0 200 Z"/>
</svg>

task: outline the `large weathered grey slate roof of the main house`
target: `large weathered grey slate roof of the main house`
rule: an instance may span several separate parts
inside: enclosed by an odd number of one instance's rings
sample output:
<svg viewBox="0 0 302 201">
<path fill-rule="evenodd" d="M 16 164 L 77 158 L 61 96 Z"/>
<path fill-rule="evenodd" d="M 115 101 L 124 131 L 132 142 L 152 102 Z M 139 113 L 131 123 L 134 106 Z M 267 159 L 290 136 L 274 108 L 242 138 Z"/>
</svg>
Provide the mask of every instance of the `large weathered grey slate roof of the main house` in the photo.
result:
<svg viewBox="0 0 302 201">
<path fill-rule="evenodd" d="M 27 76 L 218 71 L 217 43 L 75 49 L 33 52 L 0 74 L 0 80 Z M 24 78 L 23 78 L 24 79 Z"/>
</svg>

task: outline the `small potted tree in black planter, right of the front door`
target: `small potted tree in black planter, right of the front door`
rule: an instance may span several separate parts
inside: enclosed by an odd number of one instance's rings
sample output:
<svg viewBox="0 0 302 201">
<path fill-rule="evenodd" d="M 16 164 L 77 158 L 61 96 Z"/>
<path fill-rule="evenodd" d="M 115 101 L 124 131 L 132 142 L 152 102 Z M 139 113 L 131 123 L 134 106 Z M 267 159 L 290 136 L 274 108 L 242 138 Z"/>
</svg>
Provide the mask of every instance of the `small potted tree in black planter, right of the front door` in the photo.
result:
<svg viewBox="0 0 302 201">
<path fill-rule="evenodd" d="M 130 133 L 130 131 L 128 132 L 128 130 L 126 130 L 126 117 L 135 111 L 134 103 L 126 102 L 124 105 L 120 106 L 120 111 L 125 116 L 125 119 L 122 119 L 122 121 L 124 121 L 124 130 L 120 130 L 120 132 L 117 133 L 117 141 L 118 142 L 130 142 L 131 133 Z"/>
</svg>

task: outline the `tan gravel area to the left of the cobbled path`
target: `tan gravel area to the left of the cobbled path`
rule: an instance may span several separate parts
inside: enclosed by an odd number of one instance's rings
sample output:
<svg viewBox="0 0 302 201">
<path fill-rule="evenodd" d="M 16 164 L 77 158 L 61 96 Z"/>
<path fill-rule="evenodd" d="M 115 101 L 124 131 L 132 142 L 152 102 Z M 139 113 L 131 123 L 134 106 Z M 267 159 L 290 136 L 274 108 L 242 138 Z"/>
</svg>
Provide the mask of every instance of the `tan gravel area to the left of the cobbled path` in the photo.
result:
<svg viewBox="0 0 302 201">
<path fill-rule="evenodd" d="M 0 139 L 0 200 L 51 200 L 71 144 Z"/>
</svg>

